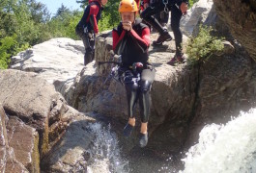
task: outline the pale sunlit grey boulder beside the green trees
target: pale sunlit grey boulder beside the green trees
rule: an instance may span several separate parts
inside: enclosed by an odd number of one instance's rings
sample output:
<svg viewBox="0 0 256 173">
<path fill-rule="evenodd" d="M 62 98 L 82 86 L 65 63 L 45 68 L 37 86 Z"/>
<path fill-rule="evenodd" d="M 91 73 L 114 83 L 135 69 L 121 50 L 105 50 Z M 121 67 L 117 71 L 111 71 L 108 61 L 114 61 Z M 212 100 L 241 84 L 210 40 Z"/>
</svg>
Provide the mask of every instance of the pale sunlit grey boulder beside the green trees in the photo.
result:
<svg viewBox="0 0 256 173">
<path fill-rule="evenodd" d="M 83 65 L 84 47 L 80 40 L 52 38 L 20 52 L 12 58 L 12 69 L 36 72 L 57 89 L 71 85 Z"/>
</svg>

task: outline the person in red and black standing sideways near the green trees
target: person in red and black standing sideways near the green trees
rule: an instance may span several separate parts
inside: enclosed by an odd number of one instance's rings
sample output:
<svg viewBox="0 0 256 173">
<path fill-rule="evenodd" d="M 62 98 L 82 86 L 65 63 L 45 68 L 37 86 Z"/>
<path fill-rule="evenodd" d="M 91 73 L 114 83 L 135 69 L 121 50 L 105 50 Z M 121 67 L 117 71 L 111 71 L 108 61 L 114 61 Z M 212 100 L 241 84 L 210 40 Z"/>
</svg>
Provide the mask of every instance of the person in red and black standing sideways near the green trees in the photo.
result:
<svg viewBox="0 0 256 173">
<path fill-rule="evenodd" d="M 99 35 L 98 22 L 107 0 L 89 0 L 83 16 L 75 27 L 75 33 L 83 40 L 85 47 L 84 65 L 94 60 L 95 37 Z"/>
</svg>

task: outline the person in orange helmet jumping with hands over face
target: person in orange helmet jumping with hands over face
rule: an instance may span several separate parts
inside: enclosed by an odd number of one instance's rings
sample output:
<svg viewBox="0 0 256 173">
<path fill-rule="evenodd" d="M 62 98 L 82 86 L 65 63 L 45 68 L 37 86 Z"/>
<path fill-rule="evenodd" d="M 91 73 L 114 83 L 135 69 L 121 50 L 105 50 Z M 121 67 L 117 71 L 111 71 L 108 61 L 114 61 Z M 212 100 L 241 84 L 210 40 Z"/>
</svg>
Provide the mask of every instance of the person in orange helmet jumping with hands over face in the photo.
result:
<svg viewBox="0 0 256 173">
<path fill-rule="evenodd" d="M 128 99 L 128 124 L 124 136 L 130 136 L 135 126 L 134 107 L 139 101 L 141 128 L 140 147 L 148 143 L 148 121 L 150 113 L 150 89 L 154 82 L 155 68 L 148 62 L 150 46 L 150 29 L 140 18 L 134 0 L 122 0 L 119 5 L 122 21 L 112 31 L 113 50 L 121 55 L 121 68 Z"/>
</svg>

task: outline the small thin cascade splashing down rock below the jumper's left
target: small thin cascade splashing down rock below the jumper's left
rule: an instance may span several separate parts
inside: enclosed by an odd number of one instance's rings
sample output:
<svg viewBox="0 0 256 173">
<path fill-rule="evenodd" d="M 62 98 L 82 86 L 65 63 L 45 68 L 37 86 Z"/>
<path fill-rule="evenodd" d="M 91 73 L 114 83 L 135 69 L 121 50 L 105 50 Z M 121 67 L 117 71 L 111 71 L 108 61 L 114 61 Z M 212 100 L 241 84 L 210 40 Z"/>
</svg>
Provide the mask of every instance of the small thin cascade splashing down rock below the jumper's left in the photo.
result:
<svg viewBox="0 0 256 173">
<path fill-rule="evenodd" d="M 95 135 L 88 162 L 88 173 L 126 173 L 128 161 L 122 159 L 117 136 L 110 132 L 110 125 L 102 127 L 100 123 L 90 124 L 90 130 Z"/>
</svg>

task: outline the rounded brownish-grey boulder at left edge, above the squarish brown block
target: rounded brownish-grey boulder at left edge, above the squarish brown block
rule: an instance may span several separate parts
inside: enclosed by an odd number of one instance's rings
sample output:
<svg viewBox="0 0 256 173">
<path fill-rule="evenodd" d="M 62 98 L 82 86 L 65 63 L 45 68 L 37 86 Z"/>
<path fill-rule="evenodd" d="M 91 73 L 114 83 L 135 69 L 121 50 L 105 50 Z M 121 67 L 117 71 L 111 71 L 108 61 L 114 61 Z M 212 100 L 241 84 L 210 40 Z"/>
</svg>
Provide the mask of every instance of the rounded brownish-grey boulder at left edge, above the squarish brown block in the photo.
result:
<svg viewBox="0 0 256 173">
<path fill-rule="evenodd" d="M 13 69 L 0 70 L 0 102 L 8 114 L 37 130 L 41 156 L 78 113 L 37 74 Z"/>
</svg>

